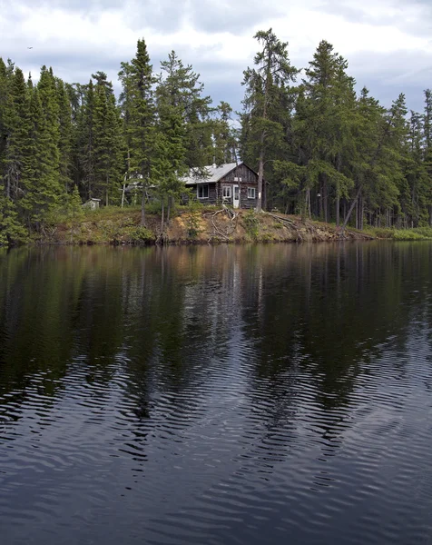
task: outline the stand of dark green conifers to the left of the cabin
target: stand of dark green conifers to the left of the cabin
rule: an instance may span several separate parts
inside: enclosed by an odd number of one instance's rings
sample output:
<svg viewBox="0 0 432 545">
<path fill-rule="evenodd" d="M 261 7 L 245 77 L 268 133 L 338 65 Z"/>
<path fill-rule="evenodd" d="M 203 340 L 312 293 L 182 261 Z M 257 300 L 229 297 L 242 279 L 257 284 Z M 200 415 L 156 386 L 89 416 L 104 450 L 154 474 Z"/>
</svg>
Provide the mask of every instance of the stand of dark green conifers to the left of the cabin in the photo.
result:
<svg viewBox="0 0 432 545">
<path fill-rule="evenodd" d="M 89 198 L 119 204 L 135 182 L 166 208 L 193 167 L 231 161 L 231 106 L 214 106 L 199 74 L 172 52 L 155 74 L 144 40 L 122 63 L 116 99 L 106 74 L 68 84 L 42 67 L 37 84 L 0 59 L 0 244 L 44 229 Z"/>
</svg>

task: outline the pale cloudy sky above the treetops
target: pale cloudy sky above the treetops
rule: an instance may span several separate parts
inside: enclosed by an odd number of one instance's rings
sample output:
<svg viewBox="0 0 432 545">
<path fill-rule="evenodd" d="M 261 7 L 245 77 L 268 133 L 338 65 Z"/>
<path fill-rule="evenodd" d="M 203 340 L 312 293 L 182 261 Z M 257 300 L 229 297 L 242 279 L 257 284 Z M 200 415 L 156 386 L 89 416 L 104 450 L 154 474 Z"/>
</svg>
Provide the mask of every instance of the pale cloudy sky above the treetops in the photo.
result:
<svg viewBox="0 0 432 545">
<path fill-rule="evenodd" d="M 383 104 L 399 93 L 423 108 L 432 87 L 432 0 L 0 0 L 0 55 L 34 76 L 42 64 L 68 82 L 97 70 L 113 82 L 144 37 L 159 62 L 174 49 L 215 102 L 240 108 L 242 71 L 270 28 L 307 66 L 321 39 L 349 61 L 358 88 Z M 32 46 L 33 49 L 27 49 Z"/>
</svg>

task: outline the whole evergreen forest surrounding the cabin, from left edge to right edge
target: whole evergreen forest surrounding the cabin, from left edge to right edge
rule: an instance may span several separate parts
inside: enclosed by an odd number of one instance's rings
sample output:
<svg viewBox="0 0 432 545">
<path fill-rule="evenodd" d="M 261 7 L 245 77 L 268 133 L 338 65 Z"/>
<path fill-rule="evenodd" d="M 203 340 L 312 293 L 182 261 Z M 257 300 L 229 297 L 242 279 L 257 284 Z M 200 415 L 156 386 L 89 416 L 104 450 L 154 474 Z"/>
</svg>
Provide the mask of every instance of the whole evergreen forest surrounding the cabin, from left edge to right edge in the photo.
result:
<svg viewBox="0 0 432 545">
<path fill-rule="evenodd" d="M 272 32 L 243 72 L 241 112 L 213 104 L 200 74 L 172 51 L 155 71 L 143 39 L 118 73 L 64 82 L 42 66 L 37 84 L 0 58 L 0 245 L 25 242 L 90 198 L 118 206 L 140 187 L 141 223 L 163 221 L 191 168 L 244 161 L 259 174 L 257 210 L 363 229 L 432 225 L 432 91 L 424 111 L 404 94 L 388 107 L 356 90 L 348 62 L 321 41 L 304 69 Z M 240 83 L 240 82 L 239 82 Z"/>
</svg>

